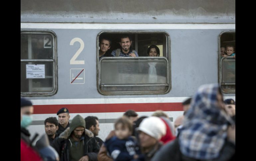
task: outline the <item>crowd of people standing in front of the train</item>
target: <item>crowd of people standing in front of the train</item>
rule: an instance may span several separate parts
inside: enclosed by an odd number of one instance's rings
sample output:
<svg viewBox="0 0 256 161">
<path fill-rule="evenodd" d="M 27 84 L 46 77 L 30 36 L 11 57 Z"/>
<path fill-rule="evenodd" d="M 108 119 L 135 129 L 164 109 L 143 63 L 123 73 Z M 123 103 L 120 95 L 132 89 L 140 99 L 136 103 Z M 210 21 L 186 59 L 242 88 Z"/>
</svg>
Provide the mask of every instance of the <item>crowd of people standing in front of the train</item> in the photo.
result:
<svg viewBox="0 0 256 161">
<path fill-rule="evenodd" d="M 33 146 L 26 127 L 32 102 L 21 98 L 21 161 L 227 161 L 235 158 L 235 101 L 223 100 L 218 84 L 202 85 L 183 102 L 184 114 L 173 122 L 164 111 L 138 116 L 126 111 L 107 138 L 98 136 L 95 116 L 67 108 L 44 121 L 45 135 Z"/>
</svg>

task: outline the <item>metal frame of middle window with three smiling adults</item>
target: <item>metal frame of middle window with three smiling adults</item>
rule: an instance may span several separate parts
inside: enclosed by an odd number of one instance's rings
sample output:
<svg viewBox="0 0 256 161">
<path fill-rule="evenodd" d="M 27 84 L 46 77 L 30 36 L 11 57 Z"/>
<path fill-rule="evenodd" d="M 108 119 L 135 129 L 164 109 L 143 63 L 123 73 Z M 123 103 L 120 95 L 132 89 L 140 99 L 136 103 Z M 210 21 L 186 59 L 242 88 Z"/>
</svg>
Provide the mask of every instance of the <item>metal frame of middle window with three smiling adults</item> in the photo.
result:
<svg viewBox="0 0 256 161">
<path fill-rule="evenodd" d="M 100 89 L 100 62 L 103 59 L 156 59 L 156 57 L 150 57 L 150 56 L 139 56 L 139 57 L 103 57 L 101 60 L 99 60 L 99 37 L 101 34 L 164 34 L 166 36 L 166 56 L 162 56 L 162 57 L 157 57 L 160 59 L 165 59 L 167 61 L 167 84 L 168 84 L 168 88 L 165 92 L 160 92 L 160 91 L 147 91 L 147 90 L 141 90 L 141 91 L 102 91 Z M 171 90 L 171 39 L 170 39 L 170 35 L 165 32 L 165 31 L 101 31 L 100 33 L 98 33 L 97 35 L 97 39 L 96 39 L 96 62 L 97 62 L 97 90 L 100 94 L 102 95 L 154 95 L 154 94 L 166 94 L 169 93 Z M 140 86 L 148 86 L 148 84 L 141 84 Z M 120 86 L 120 85 L 116 85 L 116 86 Z M 124 85 L 126 86 L 126 85 Z M 130 85 L 131 86 L 131 85 Z M 154 85 L 151 85 L 154 86 Z"/>
</svg>

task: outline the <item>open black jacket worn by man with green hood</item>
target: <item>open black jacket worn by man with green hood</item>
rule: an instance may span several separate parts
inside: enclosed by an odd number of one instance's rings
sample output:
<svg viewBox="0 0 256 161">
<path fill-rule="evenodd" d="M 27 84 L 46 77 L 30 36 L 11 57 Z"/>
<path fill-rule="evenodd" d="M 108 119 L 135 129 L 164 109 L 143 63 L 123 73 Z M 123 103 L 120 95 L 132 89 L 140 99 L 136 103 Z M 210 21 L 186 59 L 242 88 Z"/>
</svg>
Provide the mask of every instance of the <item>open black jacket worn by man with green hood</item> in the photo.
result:
<svg viewBox="0 0 256 161">
<path fill-rule="evenodd" d="M 68 127 L 63 133 L 61 133 L 59 137 L 54 139 L 53 147 L 59 153 L 60 161 L 70 161 L 70 134 Z M 97 153 L 99 152 L 99 147 L 97 145 L 96 139 L 93 137 L 93 133 L 85 129 L 82 136 L 85 138 L 83 140 L 84 156 L 87 155 L 90 161 L 97 161 Z"/>
</svg>

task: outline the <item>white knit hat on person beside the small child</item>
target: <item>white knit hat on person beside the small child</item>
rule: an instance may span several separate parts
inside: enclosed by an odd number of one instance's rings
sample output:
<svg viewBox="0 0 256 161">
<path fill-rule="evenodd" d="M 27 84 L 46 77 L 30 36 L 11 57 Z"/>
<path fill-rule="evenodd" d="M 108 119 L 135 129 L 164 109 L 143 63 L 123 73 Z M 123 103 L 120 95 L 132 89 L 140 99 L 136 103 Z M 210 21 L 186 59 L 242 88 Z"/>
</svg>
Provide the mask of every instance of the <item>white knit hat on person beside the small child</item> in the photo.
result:
<svg viewBox="0 0 256 161">
<path fill-rule="evenodd" d="M 140 130 L 156 138 L 157 140 L 160 140 L 160 138 L 166 134 L 165 123 L 160 118 L 155 116 L 145 118 L 140 123 L 140 126 L 137 128 L 137 130 Z"/>
</svg>

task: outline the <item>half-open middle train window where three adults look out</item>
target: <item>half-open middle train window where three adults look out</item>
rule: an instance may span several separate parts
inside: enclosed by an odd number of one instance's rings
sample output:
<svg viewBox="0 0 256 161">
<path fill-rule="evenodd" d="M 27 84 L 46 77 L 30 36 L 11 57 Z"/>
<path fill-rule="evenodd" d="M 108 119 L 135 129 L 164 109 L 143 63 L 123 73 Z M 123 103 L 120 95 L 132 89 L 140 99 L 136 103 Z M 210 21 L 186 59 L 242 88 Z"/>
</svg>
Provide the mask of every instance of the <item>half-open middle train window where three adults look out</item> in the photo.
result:
<svg viewBox="0 0 256 161">
<path fill-rule="evenodd" d="M 116 49 L 122 50 L 120 40 L 123 35 L 129 36 L 130 51 L 135 50 L 138 56 L 113 55 Z M 102 57 L 100 43 L 103 39 L 110 40 L 111 46 L 105 53 L 107 56 Z M 165 94 L 170 91 L 170 37 L 167 33 L 101 32 L 97 44 L 97 87 L 101 94 Z M 149 56 L 151 45 L 158 47 L 159 56 Z"/>
</svg>

